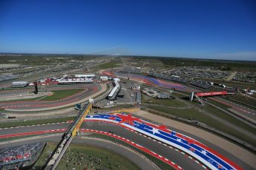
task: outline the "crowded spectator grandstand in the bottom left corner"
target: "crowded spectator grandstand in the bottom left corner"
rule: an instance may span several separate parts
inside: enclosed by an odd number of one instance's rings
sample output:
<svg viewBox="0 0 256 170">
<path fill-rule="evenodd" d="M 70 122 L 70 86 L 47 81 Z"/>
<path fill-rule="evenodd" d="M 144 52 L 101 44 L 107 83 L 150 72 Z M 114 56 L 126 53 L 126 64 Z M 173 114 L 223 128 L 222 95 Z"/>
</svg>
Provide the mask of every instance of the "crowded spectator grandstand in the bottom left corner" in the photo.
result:
<svg viewBox="0 0 256 170">
<path fill-rule="evenodd" d="M 0 149 L 0 169 L 30 169 L 46 143 L 30 143 Z"/>
</svg>

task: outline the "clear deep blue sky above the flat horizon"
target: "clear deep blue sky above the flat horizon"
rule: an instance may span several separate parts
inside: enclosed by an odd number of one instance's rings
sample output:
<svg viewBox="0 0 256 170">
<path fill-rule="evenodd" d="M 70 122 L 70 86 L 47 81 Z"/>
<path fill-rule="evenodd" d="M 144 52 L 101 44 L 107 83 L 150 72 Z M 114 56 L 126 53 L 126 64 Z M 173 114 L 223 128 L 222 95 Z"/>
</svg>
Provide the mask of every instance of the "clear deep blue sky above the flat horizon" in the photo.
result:
<svg viewBox="0 0 256 170">
<path fill-rule="evenodd" d="M 255 9 L 255 0 L 0 0 L 0 52 L 256 60 Z"/>
</svg>

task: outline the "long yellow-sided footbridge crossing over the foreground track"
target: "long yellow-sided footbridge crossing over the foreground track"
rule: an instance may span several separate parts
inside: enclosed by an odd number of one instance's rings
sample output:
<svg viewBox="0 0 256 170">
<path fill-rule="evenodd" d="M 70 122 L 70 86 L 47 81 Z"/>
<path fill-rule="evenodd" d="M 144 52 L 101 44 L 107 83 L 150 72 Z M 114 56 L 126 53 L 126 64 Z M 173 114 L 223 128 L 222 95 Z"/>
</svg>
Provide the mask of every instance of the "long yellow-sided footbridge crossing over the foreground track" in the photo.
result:
<svg viewBox="0 0 256 170">
<path fill-rule="evenodd" d="M 54 149 L 53 153 L 50 155 L 50 158 L 47 160 L 45 165 L 45 170 L 55 169 L 59 163 L 59 160 L 62 158 L 63 154 L 65 154 L 66 149 L 68 148 L 73 137 L 76 136 L 85 116 L 88 115 L 92 108 L 92 103 L 86 103 L 82 109 L 79 110 L 79 114 L 76 116 L 73 123 L 70 124 L 65 134 L 62 136 L 62 140 L 60 140 L 59 144 Z"/>
</svg>

